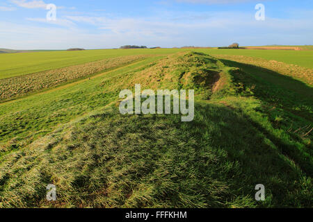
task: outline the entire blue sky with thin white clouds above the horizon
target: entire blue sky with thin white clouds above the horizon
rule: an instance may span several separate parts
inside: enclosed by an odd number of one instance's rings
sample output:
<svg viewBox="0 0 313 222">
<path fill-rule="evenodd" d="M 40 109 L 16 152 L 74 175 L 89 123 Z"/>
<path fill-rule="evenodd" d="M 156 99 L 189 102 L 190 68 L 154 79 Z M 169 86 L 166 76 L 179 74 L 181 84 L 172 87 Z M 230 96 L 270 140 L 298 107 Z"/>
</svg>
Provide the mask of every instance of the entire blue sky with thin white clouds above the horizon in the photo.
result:
<svg viewBox="0 0 313 222">
<path fill-rule="evenodd" d="M 304 45 L 312 15 L 312 0 L 0 0 L 0 48 Z"/>
</svg>

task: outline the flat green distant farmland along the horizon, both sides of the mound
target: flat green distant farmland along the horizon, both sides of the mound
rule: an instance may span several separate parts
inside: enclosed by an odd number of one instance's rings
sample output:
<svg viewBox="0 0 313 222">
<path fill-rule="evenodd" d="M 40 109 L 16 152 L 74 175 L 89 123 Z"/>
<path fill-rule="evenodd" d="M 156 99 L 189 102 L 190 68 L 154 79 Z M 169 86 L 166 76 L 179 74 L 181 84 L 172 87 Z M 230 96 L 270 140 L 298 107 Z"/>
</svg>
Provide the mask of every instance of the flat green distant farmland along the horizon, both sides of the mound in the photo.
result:
<svg viewBox="0 0 313 222">
<path fill-rule="evenodd" d="M 33 74 L 50 69 L 80 65 L 106 58 L 136 55 L 166 55 L 190 49 L 104 49 L 86 51 L 43 51 L 0 54 L 0 79 Z M 252 56 L 313 68 L 313 51 L 193 49 L 211 55 Z"/>
</svg>

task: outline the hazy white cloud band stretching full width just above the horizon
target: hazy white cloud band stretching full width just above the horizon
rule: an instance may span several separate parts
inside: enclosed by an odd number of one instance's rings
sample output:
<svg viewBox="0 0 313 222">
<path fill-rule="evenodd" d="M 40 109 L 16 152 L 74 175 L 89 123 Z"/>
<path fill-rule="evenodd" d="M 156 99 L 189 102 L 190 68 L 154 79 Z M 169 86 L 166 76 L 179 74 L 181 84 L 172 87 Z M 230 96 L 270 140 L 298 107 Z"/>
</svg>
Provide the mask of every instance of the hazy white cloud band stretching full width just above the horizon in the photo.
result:
<svg viewBox="0 0 313 222">
<path fill-rule="evenodd" d="M 72 15 L 57 18 L 55 22 L 48 22 L 45 18 L 28 20 L 61 27 L 0 22 L 0 48 L 99 49 L 125 44 L 227 46 L 232 42 L 241 45 L 310 44 L 313 39 L 312 17 L 266 17 L 266 21 L 258 22 L 253 12 L 169 11 L 153 17 Z"/>
</svg>

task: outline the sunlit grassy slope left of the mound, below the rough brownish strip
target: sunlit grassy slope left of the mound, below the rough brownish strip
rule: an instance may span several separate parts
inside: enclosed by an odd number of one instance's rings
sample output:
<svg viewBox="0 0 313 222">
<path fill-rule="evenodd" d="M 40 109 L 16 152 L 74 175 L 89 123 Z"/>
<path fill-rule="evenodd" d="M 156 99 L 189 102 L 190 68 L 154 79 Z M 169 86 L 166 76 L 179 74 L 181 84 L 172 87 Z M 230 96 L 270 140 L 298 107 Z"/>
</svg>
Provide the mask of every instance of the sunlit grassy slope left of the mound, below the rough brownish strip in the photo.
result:
<svg viewBox="0 0 313 222">
<path fill-rule="evenodd" d="M 0 142 L 13 138 L 24 142 L 27 137 L 33 141 L 38 135 L 51 132 L 59 123 L 65 123 L 106 105 L 114 100 L 113 92 L 106 92 L 97 83 L 106 78 L 126 74 L 157 59 L 158 57 L 149 58 L 100 74 L 90 80 L 81 80 L 25 99 L 0 104 Z"/>
</svg>

